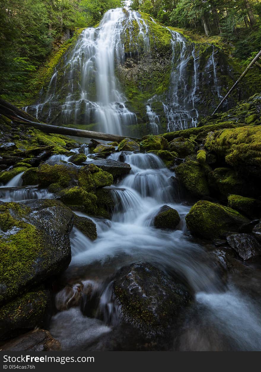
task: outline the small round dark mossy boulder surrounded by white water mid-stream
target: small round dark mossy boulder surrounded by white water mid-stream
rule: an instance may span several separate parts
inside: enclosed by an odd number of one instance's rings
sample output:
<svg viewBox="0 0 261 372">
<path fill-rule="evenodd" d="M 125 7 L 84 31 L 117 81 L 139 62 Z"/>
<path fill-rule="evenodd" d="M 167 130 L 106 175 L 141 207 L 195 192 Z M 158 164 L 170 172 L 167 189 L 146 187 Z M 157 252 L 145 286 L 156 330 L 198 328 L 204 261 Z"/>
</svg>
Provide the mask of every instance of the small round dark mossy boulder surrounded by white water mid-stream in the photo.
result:
<svg viewBox="0 0 261 372">
<path fill-rule="evenodd" d="M 154 218 L 154 227 L 158 229 L 175 230 L 179 224 L 180 217 L 176 209 L 163 205 Z"/>
</svg>

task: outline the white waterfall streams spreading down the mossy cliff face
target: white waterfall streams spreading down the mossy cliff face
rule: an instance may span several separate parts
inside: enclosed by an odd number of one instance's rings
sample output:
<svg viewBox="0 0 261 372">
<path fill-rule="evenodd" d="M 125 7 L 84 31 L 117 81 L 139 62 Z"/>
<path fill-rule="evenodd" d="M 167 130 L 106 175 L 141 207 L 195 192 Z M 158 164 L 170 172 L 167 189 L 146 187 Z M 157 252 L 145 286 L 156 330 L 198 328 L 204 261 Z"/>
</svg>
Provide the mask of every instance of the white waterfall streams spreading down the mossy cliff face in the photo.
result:
<svg viewBox="0 0 261 372">
<path fill-rule="evenodd" d="M 200 48 L 196 50 L 196 44 L 188 42 L 179 32 L 159 25 L 151 17 L 143 19 L 138 12 L 120 8 L 108 10 L 97 28 L 81 32 L 74 47 L 56 66 L 48 86 L 41 91 L 39 102 L 24 109 L 47 122 L 55 119 L 62 125 L 85 125 L 86 129 L 126 136 L 136 131 L 138 135 L 138 124 L 143 118 L 137 119 L 136 114 L 140 112 L 128 108 L 118 67 L 124 66 L 126 55 L 134 61 L 145 58 L 149 62 L 152 57 L 156 58 L 153 39 L 159 36 L 153 33 L 155 25 L 162 28 L 162 32 L 170 33 L 172 60 L 167 91 L 161 96 L 153 94 L 147 103 L 141 103 L 149 132 L 159 134 L 163 130 L 196 126 L 202 83 Z M 221 83 L 214 47 L 204 68 L 209 70 L 209 67 L 215 86 L 211 89 L 212 95 L 218 94 L 220 98 Z M 143 93 L 143 87 L 138 89 Z M 156 112 L 151 105 L 153 99 L 162 104 Z M 135 111 L 133 106 L 131 109 Z M 167 124 L 164 129 L 163 122 Z"/>
</svg>

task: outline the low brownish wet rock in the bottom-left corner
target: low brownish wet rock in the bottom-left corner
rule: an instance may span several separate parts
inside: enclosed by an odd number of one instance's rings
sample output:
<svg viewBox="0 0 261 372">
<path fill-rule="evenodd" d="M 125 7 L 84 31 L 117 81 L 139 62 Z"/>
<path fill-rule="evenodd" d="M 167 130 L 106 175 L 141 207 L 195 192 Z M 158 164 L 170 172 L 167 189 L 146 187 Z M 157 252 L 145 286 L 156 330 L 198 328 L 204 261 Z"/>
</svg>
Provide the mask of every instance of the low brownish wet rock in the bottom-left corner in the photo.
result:
<svg viewBox="0 0 261 372">
<path fill-rule="evenodd" d="M 59 351 L 61 344 L 48 331 L 37 329 L 1 345 L 2 351 Z"/>
</svg>

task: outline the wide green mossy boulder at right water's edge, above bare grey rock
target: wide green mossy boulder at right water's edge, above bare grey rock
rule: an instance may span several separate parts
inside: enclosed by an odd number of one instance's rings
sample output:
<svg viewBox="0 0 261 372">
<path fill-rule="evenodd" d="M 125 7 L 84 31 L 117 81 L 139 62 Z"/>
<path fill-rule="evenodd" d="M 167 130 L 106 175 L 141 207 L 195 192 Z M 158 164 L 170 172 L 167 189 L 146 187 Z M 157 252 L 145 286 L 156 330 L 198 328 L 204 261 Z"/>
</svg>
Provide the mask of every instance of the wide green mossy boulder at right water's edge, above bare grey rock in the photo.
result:
<svg viewBox="0 0 261 372">
<path fill-rule="evenodd" d="M 187 228 L 199 237 L 213 240 L 224 238 L 229 231 L 237 232 L 249 219 L 224 205 L 200 200 L 186 215 Z"/>
</svg>

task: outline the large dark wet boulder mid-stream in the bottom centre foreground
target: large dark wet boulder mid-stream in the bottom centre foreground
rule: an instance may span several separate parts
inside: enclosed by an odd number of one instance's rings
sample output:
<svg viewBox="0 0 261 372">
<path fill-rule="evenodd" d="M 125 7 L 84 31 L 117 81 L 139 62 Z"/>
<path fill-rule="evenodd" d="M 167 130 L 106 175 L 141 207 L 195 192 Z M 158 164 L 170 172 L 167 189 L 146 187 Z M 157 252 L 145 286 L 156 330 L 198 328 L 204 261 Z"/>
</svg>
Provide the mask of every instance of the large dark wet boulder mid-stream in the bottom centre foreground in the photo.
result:
<svg viewBox="0 0 261 372">
<path fill-rule="evenodd" d="M 144 262 L 125 266 L 117 273 L 114 294 L 124 321 L 147 334 L 166 329 L 192 299 L 181 283 Z"/>
</svg>

